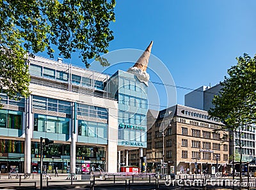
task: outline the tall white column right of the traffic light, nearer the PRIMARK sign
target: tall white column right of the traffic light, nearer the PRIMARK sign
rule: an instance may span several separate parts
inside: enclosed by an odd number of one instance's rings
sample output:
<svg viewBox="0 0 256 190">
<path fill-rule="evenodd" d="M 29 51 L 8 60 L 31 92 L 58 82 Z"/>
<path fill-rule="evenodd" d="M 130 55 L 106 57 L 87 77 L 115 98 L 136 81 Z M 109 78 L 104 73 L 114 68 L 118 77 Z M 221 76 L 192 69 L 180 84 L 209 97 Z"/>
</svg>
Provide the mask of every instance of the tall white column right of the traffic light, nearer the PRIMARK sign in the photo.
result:
<svg viewBox="0 0 256 190">
<path fill-rule="evenodd" d="M 76 116 L 77 116 L 77 103 L 73 105 L 72 124 L 71 124 L 71 145 L 70 145 L 70 173 L 76 173 Z"/>
</svg>

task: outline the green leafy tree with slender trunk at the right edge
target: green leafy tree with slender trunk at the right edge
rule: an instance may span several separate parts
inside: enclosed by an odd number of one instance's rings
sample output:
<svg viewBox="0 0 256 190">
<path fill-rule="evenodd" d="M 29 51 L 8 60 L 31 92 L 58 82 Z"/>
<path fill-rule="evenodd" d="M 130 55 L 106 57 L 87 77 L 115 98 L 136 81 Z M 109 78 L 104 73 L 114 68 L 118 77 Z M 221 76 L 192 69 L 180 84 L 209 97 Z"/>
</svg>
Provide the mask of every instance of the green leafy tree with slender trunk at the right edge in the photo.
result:
<svg viewBox="0 0 256 190">
<path fill-rule="evenodd" d="M 222 89 L 212 100 L 214 108 L 209 110 L 211 117 L 220 119 L 224 125 L 220 130 L 232 131 L 239 146 L 240 180 L 244 129 L 255 123 L 256 114 L 256 55 L 244 54 L 237 58 L 237 65 L 228 69 L 229 77 L 221 82 Z"/>
</svg>

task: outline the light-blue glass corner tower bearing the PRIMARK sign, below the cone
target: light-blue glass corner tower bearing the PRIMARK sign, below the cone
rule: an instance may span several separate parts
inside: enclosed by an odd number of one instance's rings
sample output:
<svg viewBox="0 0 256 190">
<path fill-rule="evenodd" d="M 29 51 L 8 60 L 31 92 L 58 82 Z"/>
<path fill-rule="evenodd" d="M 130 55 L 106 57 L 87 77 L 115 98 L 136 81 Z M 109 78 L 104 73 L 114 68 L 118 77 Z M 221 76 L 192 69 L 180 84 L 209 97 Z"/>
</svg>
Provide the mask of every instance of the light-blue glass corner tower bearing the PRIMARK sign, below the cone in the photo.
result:
<svg viewBox="0 0 256 190">
<path fill-rule="evenodd" d="M 147 85 L 118 71 L 109 86 L 110 96 L 118 99 L 118 145 L 147 147 Z"/>
</svg>

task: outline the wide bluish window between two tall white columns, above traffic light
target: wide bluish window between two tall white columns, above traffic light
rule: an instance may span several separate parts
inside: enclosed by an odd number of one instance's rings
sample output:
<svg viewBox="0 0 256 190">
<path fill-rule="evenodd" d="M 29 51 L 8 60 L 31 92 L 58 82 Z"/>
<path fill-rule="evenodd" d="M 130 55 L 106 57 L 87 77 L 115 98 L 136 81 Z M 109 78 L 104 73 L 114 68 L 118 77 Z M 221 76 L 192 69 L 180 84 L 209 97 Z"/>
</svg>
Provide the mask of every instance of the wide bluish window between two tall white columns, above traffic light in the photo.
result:
<svg viewBox="0 0 256 190">
<path fill-rule="evenodd" d="M 34 131 L 42 131 L 47 133 L 69 133 L 68 118 L 54 117 L 49 115 L 34 114 Z"/>
</svg>

